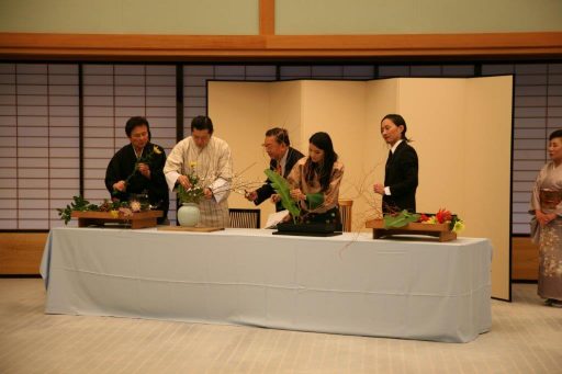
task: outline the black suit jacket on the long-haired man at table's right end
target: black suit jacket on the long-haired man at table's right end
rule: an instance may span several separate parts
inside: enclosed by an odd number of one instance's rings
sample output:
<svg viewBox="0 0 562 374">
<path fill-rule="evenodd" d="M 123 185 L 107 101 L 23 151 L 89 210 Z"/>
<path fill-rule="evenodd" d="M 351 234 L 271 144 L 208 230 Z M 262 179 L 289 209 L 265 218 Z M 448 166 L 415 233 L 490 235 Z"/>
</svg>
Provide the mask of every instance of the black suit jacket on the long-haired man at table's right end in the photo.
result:
<svg viewBox="0 0 562 374">
<path fill-rule="evenodd" d="M 417 172 L 416 150 L 402 140 L 394 155 L 386 160 L 384 185 L 391 189 L 391 195 L 382 197 L 384 213 L 403 209 L 416 212 Z"/>
</svg>

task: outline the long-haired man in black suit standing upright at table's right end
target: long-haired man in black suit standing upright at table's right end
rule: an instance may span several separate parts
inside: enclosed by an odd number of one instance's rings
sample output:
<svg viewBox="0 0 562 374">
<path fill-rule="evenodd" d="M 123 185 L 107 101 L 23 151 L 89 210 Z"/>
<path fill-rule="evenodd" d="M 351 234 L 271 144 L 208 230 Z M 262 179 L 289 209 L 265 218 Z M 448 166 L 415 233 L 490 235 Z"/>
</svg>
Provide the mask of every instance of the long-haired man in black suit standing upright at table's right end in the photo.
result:
<svg viewBox="0 0 562 374">
<path fill-rule="evenodd" d="M 418 160 L 406 138 L 406 122 L 400 114 L 387 114 L 381 122 L 381 134 L 391 147 L 384 172 L 384 184 L 373 190 L 382 195 L 383 213 L 416 212 Z"/>
</svg>

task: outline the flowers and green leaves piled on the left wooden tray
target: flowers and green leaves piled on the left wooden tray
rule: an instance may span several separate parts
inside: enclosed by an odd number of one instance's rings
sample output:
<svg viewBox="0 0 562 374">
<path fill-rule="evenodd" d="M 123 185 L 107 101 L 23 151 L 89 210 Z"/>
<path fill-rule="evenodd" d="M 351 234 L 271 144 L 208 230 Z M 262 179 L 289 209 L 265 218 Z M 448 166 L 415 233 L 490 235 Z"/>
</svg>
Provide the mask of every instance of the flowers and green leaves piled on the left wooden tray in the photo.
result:
<svg viewBox="0 0 562 374">
<path fill-rule="evenodd" d="M 72 202 L 65 208 L 57 208 L 58 216 L 68 225 L 72 212 L 109 212 L 113 218 L 131 217 L 134 213 L 148 211 L 150 206 L 139 201 L 111 202 L 104 200 L 100 205 L 91 204 L 83 196 L 74 196 Z"/>
</svg>

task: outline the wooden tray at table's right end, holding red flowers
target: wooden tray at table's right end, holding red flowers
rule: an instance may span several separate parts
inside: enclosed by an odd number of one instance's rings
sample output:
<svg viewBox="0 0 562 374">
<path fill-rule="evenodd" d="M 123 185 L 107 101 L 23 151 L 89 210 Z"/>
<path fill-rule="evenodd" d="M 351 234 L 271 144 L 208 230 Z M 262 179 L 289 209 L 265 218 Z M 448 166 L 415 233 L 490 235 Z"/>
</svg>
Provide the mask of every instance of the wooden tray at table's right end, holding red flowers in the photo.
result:
<svg viewBox="0 0 562 374">
<path fill-rule="evenodd" d="M 384 228 L 383 219 L 368 220 L 364 225 L 373 229 L 373 239 L 393 235 L 428 235 L 439 238 L 439 241 L 449 241 L 457 239 L 457 234 L 449 229 L 449 224 L 419 224 L 412 223 L 401 228 Z"/>
</svg>

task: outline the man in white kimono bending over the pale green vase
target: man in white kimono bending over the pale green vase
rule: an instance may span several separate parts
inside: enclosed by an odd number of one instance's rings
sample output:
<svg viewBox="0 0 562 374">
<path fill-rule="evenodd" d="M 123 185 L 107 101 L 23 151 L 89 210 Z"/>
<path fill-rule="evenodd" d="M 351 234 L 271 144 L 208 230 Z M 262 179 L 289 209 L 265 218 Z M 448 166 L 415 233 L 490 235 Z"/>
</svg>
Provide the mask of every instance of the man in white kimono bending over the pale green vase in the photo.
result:
<svg viewBox="0 0 562 374">
<path fill-rule="evenodd" d="M 231 147 L 213 136 L 213 122 L 207 116 L 196 116 L 191 122 L 191 136 L 178 143 L 166 160 L 164 173 L 170 191 L 182 184 L 189 189 L 188 173 L 194 165 L 195 174 L 204 188 L 204 199 L 199 204 L 201 226 L 228 227 L 228 194 L 233 180 Z"/>
</svg>

